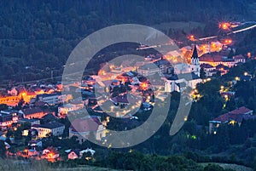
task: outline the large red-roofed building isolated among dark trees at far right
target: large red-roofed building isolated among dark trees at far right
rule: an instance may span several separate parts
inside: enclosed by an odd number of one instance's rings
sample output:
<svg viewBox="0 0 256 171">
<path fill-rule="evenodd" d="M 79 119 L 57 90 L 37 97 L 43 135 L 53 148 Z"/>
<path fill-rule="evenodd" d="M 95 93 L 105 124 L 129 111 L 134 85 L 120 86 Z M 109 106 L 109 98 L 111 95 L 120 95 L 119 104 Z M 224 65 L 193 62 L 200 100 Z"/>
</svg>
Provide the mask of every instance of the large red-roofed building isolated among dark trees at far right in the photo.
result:
<svg viewBox="0 0 256 171">
<path fill-rule="evenodd" d="M 239 126 L 243 120 L 248 119 L 255 119 L 256 117 L 253 116 L 253 111 L 248 109 L 245 106 L 242 106 L 234 111 L 230 111 L 224 113 L 223 115 L 214 118 L 212 121 L 209 121 L 209 133 L 210 134 L 217 134 L 217 129 L 220 124 L 228 123 L 228 124 L 235 124 L 238 123 Z"/>
</svg>

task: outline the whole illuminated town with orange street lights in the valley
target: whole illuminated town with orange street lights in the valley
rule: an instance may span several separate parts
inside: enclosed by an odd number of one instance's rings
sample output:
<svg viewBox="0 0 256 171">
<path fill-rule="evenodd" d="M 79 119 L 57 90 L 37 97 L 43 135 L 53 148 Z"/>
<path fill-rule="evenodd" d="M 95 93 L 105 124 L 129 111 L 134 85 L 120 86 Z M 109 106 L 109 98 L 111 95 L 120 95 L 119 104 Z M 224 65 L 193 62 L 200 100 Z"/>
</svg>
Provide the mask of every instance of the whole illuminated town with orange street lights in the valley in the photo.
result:
<svg viewBox="0 0 256 171">
<path fill-rule="evenodd" d="M 187 92 L 196 102 L 202 98 L 197 85 L 224 76 L 232 67 L 255 60 L 250 53 L 247 56 L 232 55 L 236 48 L 230 48 L 229 43 L 192 43 L 166 55 L 149 54 L 141 61 L 123 60 L 119 66 L 109 62 L 98 75 L 84 76 L 81 83 L 63 86 L 61 83 L 37 82 L 2 88 L 0 140 L 3 140 L 9 157 L 56 162 L 81 158 L 85 154 L 84 159 L 90 160 L 97 151 L 86 146 L 86 137 L 93 136 L 102 145 L 108 141 L 108 128 L 113 120 L 106 117 L 106 113 L 124 118 L 125 129 L 138 125 L 144 121 L 137 114 L 152 111 L 156 97 L 164 101 L 172 92 Z M 175 60 L 181 55 L 186 57 L 187 64 Z M 174 66 L 168 62 L 170 60 L 174 61 Z M 162 75 L 154 79 L 160 73 Z M 224 101 L 235 96 L 236 91 L 231 89 L 238 82 L 255 82 L 255 76 L 244 72 L 233 77 L 229 87 L 221 85 L 219 94 Z M 61 94 L 63 90 L 70 94 Z M 81 98 L 73 99 L 72 92 L 81 94 Z M 67 122 L 74 111 L 83 116 L 84 110 L 90 111 L 90 117 Z M 256 118 L 253 110 L 245 106 L 217 115 L 208 121 L 205 134 L 218 134 L 220 124 L 241 124 L 243 120 Z M 187 120 L 185 117 L 184 121 Z M 74 140 L 83 144 L 84 149 L 56 146 L 47 142 L 52 140 L 51 137 L 63 142 Z"/>
</svg>

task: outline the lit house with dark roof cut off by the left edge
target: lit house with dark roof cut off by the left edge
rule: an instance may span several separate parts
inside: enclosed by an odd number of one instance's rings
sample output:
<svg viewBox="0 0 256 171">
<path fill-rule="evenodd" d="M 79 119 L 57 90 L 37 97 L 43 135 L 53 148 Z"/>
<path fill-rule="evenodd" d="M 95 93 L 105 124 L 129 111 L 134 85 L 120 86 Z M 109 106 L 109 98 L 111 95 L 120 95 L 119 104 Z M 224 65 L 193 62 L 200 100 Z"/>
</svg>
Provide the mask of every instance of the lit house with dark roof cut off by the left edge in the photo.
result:
<svg viewBox="0 0 256 171">
<path fill-rule="evenodd" d="M 18 111 L 4 110 L 0 111 L 0 127 L 6 128 L 11 126 L 12 123 L 17 123 Z"/>
</svg>

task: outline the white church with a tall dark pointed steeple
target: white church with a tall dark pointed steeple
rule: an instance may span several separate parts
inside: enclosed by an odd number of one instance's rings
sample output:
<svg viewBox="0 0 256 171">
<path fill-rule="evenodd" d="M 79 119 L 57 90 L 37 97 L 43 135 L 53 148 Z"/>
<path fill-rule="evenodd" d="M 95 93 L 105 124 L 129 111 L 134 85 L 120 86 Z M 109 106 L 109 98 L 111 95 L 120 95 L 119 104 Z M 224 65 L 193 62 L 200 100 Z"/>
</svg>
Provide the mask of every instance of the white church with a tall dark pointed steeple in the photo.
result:
<svg viewBox="0 0 256 171">
<path fill-rule="evenodd" d="M 190 65 L 182 63 L 174 66 L 175 75 L 166 80 L 165 92 L 182 92 L 188 87 L 196 88 L 196 84 L 202 82 L 200 69 L 200 61 L 195 45 Z"/>
</svg>

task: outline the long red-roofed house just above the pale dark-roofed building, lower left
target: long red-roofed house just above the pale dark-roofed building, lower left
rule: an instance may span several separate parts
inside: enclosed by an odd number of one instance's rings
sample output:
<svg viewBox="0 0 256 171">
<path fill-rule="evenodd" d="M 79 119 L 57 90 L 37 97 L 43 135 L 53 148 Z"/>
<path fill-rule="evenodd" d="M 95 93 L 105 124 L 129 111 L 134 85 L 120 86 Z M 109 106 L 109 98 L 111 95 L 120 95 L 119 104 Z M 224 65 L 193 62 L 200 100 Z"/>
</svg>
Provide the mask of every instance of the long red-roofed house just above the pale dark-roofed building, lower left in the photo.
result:
<svg viewBox="0 0 256 171">
<path fill-rule="evenodd" d="M 23 116 L 23 118 L 26 119 L 33 119 L 33 118 L 42 118 L 44 117 L 48 112 L 43 111 L 39 107 L 30 107 L 26 109 L 21 109 L 19 111 L 20 115 Z"/>
</svg>

